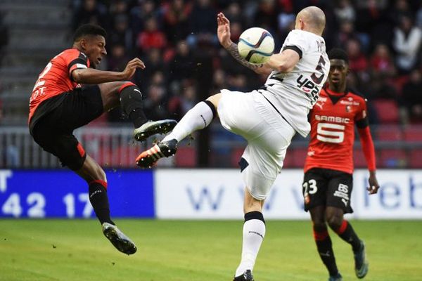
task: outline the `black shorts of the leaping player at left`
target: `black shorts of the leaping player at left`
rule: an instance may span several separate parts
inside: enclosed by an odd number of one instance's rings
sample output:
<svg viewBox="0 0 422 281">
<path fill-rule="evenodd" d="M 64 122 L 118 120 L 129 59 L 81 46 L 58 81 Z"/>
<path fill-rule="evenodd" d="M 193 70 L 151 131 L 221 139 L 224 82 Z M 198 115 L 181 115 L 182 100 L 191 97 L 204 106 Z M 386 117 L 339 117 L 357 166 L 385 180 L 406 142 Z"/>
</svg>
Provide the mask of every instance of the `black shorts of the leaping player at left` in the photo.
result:
<svg viewBox="0 0 422 281">
<path fill-rule="evenodd" d="M 98 86 L 87 86 L 44 100 L 30 122 L 34 141 L 60 159 L 63 166 L 81 169 L 87 154 L 73 131 L 103 113 Z"/>
</svg>

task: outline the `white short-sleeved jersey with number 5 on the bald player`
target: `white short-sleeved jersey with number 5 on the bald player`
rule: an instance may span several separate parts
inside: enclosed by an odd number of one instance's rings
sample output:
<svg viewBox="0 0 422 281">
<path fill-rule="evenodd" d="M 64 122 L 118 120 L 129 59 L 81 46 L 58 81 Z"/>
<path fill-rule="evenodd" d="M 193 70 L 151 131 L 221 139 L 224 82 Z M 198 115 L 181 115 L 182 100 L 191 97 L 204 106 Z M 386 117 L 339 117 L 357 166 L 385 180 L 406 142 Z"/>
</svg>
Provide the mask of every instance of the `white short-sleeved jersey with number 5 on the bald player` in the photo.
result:
<svg viewBox="0 0 422 281">
<path fill-rule="evenodd" d="M 300 60 L 288 73 L 271 72 L 265 82 L 266 91 L 260 93 L 305 137 L 311 129 L 307 115 L 328 77 L 330 60 L 324 38 L 312 32 L 290 31 L 281 51 L 289 48 L 299 53 Z"/>
</svg>

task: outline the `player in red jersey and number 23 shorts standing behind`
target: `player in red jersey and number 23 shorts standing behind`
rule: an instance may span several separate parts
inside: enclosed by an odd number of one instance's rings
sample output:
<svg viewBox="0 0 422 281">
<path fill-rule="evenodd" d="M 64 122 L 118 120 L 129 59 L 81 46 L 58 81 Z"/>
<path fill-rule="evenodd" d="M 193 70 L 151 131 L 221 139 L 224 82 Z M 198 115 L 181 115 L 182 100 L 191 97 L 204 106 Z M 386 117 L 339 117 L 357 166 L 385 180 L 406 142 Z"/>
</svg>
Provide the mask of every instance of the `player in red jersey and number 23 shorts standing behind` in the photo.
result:
<svg viewBox="0 0 422 281">
<path fill-rule="evenodd" d="M 328 85 L 321 90 L 317 103 L 309 112 L 311 140 L 305 162 L 302 185 L 305 210 L 312 218 L 314 240 L 321 260 L 330 277 L 328 281 L 343 280 L 335 257 L 327 223 L 345 242 L 352 245 L 354 270 L 358 278 L 365 277 L 368 262 L 365 245 L 343 214 L 352 213 L 354 125 L 369 169 L 369 194 L 375 194 L 375 152 L 366 112 L 366 100 L 346 89 L 349 60 L 345 51 L 335 48 L 328 52 L 330 72 Z"/>
</svg>

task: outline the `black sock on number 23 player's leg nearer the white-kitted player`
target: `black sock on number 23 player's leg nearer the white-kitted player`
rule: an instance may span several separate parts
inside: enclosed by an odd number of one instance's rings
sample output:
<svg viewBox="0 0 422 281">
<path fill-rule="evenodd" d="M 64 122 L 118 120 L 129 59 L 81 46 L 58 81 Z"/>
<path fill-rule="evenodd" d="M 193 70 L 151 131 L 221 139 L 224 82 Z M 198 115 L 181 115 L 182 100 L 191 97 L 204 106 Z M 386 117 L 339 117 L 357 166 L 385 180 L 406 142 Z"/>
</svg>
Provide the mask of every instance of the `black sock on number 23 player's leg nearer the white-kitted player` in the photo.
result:
<svg viewBox="0 0 422 281">
<path fill-rule="evenodd" d="M 328 235 L 328 230 L 319 230 L 317 232 L 314 229 L 314 240 L 316 248 L 318 249 L 319 257 L 328 269 L 328 273 L 330 276 L 337 275 L 338 269 L 335 264 L 333 244 L 331 243 L 330 235 Z"/>
</svg>

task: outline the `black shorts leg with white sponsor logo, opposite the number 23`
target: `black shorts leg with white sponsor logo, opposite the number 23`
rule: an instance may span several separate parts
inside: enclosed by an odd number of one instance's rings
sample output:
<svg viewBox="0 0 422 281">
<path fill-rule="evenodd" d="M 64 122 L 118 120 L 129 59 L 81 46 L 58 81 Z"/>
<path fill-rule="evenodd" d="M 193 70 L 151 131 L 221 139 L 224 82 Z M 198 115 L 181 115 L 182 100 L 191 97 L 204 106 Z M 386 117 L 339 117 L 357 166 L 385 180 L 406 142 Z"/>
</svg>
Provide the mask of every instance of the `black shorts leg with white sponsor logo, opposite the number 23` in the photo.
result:
<svg viewBox="0 0 422 281">
<path fill-rule="evenodd" d="M 353 189 L 352 174 L 343 171 L 330 171 L 330 181 L 327 190 L 327 206 L 343 209 L 345 213 L 352 213 L 350 198 Z"/>
</svg>

